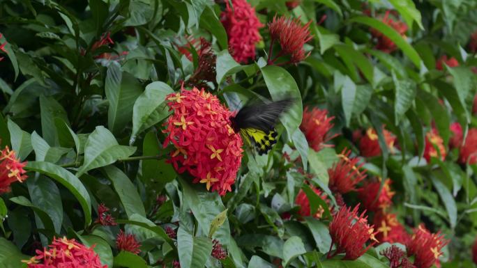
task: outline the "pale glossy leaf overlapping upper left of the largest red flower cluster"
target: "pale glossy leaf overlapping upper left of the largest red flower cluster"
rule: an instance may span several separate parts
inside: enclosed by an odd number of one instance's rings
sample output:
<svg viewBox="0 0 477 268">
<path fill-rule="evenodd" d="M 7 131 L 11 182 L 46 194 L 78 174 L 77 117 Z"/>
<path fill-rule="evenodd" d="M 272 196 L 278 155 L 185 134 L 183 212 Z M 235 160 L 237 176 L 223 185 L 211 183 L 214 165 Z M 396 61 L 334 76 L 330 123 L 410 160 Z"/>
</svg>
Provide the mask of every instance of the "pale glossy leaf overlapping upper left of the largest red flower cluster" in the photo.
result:
<svg viewBox="0 0 477 268">
<path fill-rule="evenodd" d="M 136 135 L 148 127 L 156 125 L 169 115 L 165 97 L 174 90 L 167 84 L 156 81 L 146 86 L 132 108 L 132 133 L 129 144 L 132 145 Z"/>
</svg>

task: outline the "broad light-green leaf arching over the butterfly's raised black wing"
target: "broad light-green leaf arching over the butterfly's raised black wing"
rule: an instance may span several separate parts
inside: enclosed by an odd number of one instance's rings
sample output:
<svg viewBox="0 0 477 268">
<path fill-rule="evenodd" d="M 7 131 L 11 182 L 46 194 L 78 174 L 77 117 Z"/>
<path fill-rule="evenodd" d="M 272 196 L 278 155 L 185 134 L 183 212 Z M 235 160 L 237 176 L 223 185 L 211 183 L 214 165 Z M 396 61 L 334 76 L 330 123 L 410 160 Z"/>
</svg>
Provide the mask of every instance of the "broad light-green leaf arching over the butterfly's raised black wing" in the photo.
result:
<svg viewBox="0 0 477 268">
<path fill-rule="evenodd" d="M 301 94 L 296 81 L 287 70 L 275 65 L 268 65 L 262 68 L 262 75 L 272 100 L 278 101 L 284 97 L 292 97 L 294 100 L 292 107 L 280 117 L 283 126 L 291 137 L 300 126 L 303 116 L 303 104 L 301 103 Z"/>
</svg>

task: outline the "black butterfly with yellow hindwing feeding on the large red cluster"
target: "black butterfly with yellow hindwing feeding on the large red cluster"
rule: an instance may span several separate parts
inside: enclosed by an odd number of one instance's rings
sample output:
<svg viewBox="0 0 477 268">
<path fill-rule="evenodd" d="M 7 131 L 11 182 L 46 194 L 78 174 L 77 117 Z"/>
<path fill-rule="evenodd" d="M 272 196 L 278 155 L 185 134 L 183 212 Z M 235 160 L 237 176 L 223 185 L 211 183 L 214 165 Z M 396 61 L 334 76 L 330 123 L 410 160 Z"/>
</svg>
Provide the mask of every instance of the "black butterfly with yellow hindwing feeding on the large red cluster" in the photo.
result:
<svg viewBox="0 0 477 268">
<path fill-rule="evenodd" d="M 280 114 L 292 103 L 292 99 L 286 98 L 267 104 L 257 102 L 245 104 L 236 116 L 230 118 L 232 128 L 235 133 L 240 132 L 245 145 L 255 148 L 259 155 L 264 155 L 277 142 L 275 125 Z"/>
</svg>

